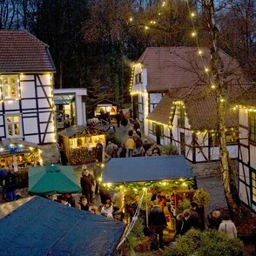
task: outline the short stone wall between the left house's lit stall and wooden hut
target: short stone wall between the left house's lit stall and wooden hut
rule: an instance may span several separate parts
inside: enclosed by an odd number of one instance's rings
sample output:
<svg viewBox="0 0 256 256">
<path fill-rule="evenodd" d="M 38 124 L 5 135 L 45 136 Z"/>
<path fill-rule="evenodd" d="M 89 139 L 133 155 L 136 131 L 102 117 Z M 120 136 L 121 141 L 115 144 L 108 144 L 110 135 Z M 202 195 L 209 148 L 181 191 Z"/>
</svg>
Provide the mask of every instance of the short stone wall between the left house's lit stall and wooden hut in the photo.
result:
<svg viewBox="0 0 256 256">
<path fill-rule="evenodd" d="M 57 144 L 41 145 L 41 147 L 43 165 L 57 164 L 60 162 L 60 154 L 58 152 Z"/>
</svg>

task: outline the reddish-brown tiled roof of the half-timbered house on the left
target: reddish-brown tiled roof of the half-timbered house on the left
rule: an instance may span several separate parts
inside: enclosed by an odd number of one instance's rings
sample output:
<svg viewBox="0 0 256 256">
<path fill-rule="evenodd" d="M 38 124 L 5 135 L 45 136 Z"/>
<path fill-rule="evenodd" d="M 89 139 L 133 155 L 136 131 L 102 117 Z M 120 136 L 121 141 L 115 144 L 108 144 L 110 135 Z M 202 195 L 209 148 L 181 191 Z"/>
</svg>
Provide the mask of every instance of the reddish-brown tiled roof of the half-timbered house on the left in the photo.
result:
<svg viewBox="0 0 256 256">
<path fill-rule="evenodd" d="M 48 50 L 27 30 L 0 30 L 0 72 L 55 71 Z"/>
</svg>

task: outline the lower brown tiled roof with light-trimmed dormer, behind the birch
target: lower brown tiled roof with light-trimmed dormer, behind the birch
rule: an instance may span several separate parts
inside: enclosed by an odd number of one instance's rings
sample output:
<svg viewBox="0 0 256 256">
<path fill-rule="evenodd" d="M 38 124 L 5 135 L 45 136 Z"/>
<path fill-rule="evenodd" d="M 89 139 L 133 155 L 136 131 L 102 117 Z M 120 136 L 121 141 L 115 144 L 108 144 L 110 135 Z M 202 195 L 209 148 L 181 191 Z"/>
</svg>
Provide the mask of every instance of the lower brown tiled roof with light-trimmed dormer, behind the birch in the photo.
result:
<svg viewBox="0 0 256 256">
<path fill-rule="evenodd" d="M 243 91 L 238 84 L 230 84 L 227 96 L 226 127 L 238 126 L 238 112 L 232 111 L 229 104 L 236 95 Z M 181 93 L 182 92 L 182 93 Z M 156 108 L 149 114 L 148 118 L 169 125 L 172 102 L 183 100 L 185 103 L 186 117 L 192 130 L 216 130 L 218 125 L 216 96 L 209 89 L 209 86 L 201 85 L 189 91 L 170 91 L 161 99 Z"/>
</svg>

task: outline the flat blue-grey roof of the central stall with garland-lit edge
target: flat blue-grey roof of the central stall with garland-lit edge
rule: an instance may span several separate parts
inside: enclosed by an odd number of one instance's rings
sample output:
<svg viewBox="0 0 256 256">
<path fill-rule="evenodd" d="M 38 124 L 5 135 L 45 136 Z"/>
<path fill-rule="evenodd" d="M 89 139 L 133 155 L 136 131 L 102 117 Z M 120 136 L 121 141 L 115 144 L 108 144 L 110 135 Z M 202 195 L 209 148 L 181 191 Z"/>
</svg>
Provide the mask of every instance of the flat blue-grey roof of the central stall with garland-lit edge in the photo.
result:
<svg viewBox="0 0 256 256">
<path fill-rule="evenodd" d="M 183 156 L 111 158 L 103 170 L 104 183 L 192 178 Z"/>
</svg>

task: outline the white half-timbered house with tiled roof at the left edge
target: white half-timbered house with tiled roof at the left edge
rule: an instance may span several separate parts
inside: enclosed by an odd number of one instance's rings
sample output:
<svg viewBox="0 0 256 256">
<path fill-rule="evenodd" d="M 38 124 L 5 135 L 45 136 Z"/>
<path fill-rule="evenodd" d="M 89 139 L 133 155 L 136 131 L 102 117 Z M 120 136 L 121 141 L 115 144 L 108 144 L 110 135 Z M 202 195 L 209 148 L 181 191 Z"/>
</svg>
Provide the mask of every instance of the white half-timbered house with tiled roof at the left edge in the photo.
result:
<svg viewBox="0 0 256 256">
<path fill-rule="evenodd" d="M 0 139 L 56 144 L 47 44 L 27 30 L 0 30 Z"/>
</svg>

